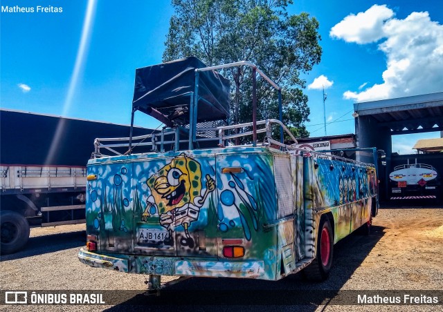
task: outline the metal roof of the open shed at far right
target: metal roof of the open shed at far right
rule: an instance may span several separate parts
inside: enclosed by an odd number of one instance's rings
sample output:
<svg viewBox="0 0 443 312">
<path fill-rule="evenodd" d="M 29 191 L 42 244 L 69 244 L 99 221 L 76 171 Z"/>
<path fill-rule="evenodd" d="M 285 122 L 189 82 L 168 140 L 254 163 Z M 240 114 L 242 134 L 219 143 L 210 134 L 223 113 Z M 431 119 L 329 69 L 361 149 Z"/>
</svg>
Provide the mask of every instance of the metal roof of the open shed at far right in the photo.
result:
<svg viewBox="0 0 443 312">
<path fill-rule="evenodd" d="M 372 116 L 392 134 L 443 130 L 443 92 L 354 104 L 358 116 Z"/>
</svg>

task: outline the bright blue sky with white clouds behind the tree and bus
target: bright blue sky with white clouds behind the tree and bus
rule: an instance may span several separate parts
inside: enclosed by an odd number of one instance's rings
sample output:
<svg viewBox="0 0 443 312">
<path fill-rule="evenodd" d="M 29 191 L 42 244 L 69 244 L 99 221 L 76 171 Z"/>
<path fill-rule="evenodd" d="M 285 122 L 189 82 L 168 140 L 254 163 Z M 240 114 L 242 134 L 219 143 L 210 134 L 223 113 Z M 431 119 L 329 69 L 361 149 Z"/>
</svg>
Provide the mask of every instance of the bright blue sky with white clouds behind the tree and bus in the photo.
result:
<svg viewBox="0 0 443 312">
<path fill-rule="evenodd" d="M 174 14 L 169 0 L 0 3 L 1 108 L 129 124 L 135 69 L 161 63 Z M 320 23 L 322 60 L 302 75 L 311 137 L 325 135 L 325 119 L 327 135 L 354 133 L 356 102 L 443 91 L 439 3 L 294 0 L 289 5 L 289 14 L 307 12 Z M 5 12 L 6 6 L 34 12 Z M 135 124 L 160 125 L 141 113 Z M 411 152 L 417 138 L 439 135 L 395 136 L 392 151 Z"/>
</svg>

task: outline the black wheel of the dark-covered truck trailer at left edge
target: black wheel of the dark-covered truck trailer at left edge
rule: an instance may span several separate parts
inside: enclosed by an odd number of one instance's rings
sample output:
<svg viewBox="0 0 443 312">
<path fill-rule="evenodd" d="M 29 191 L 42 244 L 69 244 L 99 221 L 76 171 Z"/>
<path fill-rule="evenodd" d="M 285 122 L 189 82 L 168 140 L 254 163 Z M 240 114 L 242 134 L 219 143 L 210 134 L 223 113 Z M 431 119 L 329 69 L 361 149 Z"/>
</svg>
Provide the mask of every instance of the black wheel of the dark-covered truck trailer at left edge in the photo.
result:
<svg viewBox="0 0 443 312">
<path fill-rule="evenodd" d="M 15 211 L 1 211 L 0 222 L 0 252 L 3 255 L 15 253 L 28 242 L 28 221 Z"/>
</svg>

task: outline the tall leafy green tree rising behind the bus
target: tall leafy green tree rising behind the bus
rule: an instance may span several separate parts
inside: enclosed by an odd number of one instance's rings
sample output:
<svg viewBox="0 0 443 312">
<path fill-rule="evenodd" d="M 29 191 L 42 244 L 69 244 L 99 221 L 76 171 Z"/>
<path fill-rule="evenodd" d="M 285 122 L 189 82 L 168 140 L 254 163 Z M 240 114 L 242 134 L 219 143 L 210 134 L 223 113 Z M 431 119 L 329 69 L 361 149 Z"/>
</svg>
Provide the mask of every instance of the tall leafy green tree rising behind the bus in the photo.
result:
<svg viewBox="0 0 443 312">
<path fill-rule="evenodd" d="M 208 66 L 251 61 L 282 87 L 284 123 L 296 136 L 306 136 L 309 107 L 300 73 L 320 62 L 322 49 L 318 21 L 307 13 L 289 15 L 289 4 L 292 0 L 172 0 L 163 61 L 190 55 Z M 251 121 L 251 70 L 223 74 L 235 81 L 233 121 Z M 278 119 L 276 98 L 271 86 L 257 79 L 257 119 Z"/>
</svg>

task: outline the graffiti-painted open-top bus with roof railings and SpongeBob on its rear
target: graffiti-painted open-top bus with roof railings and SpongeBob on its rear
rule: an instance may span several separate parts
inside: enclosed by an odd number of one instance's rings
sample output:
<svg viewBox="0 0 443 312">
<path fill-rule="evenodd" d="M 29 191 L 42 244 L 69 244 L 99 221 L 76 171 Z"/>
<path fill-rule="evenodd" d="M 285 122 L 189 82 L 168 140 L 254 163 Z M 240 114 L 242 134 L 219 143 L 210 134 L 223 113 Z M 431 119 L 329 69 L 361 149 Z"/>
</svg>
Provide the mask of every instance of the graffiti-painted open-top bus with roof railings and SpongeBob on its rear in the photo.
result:
<svg viewBox="0 0 443 312">
<path fill-rule="evenodd" d="M 250 66 L 253 92 L 258 73 L 277 90 L 281 104 L 279 86 L 248 62 L 208 68 L 186 58 L 136 71 L 132 120 L 142 110 L 168 127 L 152 135 L 96 139 L 87 165 L 81 262 L 147 274 L 151 291 L 165 286 L 161 275 L 280 280 L 303 270 L 311 280 L 324 280 L 334 244 L 359 228 L 369 231 L 377 215 L 374 164 L 293 147 L 296 138 L 280 120 L 255 120 L 255 103 L 251 123 L 207 126 L 209 113 L 217 115 L 228 104 L 219 92 L 228 93 L 229 86 L 215 70 L 230 66 Z M 186 75 L 193 84 L 171 84 L 171 77 Z M 157 85 L 147 88 L 149 81 Z M 179 89 L 174 84 L 190 88 L 171 100 L 167 92 L 150 93 L 159 84 L 165 90 Z M 168 101 L 154 101 L 159 98 Z M 163 109 L 174 103 L 180 108 Z M 186 126 L 171 118 L 178 110 Z M 200 127 L 204 122 L 206 128 Z M 282 136 L 273 139 L 275 126 L 291 144 Z M 236 145 L 239 137 L 246 144 Z M 127 153 L 102 154 L 121 144 Z M 138 144 L 152 151 L 134 153 Z"/>
</svg>

